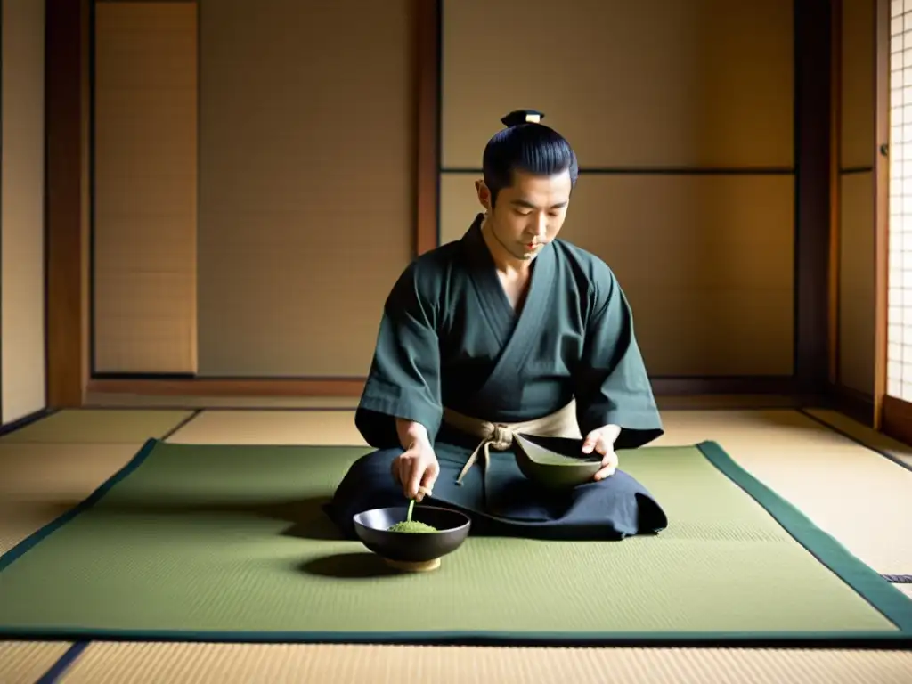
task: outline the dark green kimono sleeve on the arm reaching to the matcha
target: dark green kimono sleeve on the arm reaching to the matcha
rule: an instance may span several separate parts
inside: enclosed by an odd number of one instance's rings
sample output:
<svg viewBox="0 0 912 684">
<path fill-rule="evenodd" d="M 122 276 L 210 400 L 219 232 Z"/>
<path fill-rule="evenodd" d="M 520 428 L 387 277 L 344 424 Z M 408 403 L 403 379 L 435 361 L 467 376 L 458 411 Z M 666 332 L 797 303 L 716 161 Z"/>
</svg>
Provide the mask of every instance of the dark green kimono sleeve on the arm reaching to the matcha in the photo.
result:
<svg viewBox="0 0 912 684">
<path fill-rule="evenodd" d="M 400 446 L 396 419 L 423 425 L 433 441 L 440 403 L 440 345 L 434 287 L 420 278 L 417 262 L 399 276 L 387 297 L 377 345 L 361 395 L 355 424 L 377 449 Z M 430 295 L 429 295 L 430 293 Z"/>
</svg>

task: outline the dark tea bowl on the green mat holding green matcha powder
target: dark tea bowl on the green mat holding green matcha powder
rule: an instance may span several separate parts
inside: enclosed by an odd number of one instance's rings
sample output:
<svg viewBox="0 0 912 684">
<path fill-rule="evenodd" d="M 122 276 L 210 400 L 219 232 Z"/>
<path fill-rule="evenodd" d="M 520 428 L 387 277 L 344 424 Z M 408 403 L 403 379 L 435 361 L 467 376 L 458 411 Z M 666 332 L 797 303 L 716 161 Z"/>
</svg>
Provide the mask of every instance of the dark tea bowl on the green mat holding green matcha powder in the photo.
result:
<svg viewBox="0 0 912 684">
<path fill-rule="evenodd" d="M 364 511 L 353 519 L 361 543 L 399 570 L 436 570 L 440 567 L 440 558 L 458 549 L 472 527 L 472 520 L 465 513 L 416 505 L 411 519 L 429 524 L 438 532 L 389 531 L 392 525 L 401 523 L 408 514 L 408 506 L 393 506 Z"/>
</svg>

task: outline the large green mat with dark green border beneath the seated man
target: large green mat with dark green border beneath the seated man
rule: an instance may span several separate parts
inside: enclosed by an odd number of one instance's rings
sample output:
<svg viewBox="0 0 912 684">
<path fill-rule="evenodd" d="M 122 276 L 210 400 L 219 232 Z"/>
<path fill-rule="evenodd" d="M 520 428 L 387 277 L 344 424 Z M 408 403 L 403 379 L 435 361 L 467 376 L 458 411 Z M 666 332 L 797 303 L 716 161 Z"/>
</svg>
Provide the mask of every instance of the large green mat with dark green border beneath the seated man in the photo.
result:
<svg viewBox="0 0 912 684">
<path fill-rule="evenodd" d="M 620 454 L 668 529 L 395 574 L 320 506 L 361 447 L 149 440 L 0 557 L 0 637 L 907 648 L 912 600 L 714 442 Z"/>
</svg>

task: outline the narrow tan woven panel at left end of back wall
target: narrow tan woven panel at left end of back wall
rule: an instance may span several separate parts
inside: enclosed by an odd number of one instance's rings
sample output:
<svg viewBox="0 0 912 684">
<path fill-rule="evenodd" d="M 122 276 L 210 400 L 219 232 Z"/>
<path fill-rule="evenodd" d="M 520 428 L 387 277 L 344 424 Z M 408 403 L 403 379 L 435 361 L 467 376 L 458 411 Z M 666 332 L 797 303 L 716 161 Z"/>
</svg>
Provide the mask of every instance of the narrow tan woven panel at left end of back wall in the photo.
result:
<svg viewBox="0 0 912 684">
<path fill-rule="evenodd" d="M 95 370 L 192 372 L 197 4 L 98 2 L 95 13 Z"/>
</svg>

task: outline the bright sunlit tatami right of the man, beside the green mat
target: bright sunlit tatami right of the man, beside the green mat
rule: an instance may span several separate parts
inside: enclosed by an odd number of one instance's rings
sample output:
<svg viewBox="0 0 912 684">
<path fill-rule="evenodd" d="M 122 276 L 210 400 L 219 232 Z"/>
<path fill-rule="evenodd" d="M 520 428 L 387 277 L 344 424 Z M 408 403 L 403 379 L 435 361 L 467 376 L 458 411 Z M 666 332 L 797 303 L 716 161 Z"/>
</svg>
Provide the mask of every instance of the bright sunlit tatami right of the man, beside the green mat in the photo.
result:
<svg viewBox="0 0 912 684">
<path fill-rule="evenodd" d="M 912 472 L 797 411 L 668 412 L 664 420 L 656 443 L 718 441 L 867 565 L 912 575 Z"/>
</svg>

